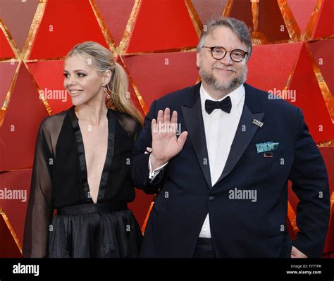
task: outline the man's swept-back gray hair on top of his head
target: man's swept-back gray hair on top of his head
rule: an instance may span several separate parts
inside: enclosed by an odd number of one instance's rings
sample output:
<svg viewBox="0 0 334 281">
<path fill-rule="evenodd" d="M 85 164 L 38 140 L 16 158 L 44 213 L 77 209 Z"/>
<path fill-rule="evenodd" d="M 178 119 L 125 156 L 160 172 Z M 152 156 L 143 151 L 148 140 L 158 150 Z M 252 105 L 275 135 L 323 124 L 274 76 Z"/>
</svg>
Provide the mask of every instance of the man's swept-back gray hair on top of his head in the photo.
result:
<svg viewBox="0 0 334 281">
<path fill-rule="evenodd" d="M 216 28 L 216 27 L 228 27 L 232 30 L 235 35 L 244 43 L 248 48 L 247 61 L 252 54 L 252 39 L 249 35 L 249 29 L 247 25 L 236 18 L 217 18 L 214 20 L 209 20 L 206 25 L 204 25 L 201 37 L 199 37 L 199 42 L 197 44 L 197 53 L 202 51 L 206 37 Z"/>
</svg>

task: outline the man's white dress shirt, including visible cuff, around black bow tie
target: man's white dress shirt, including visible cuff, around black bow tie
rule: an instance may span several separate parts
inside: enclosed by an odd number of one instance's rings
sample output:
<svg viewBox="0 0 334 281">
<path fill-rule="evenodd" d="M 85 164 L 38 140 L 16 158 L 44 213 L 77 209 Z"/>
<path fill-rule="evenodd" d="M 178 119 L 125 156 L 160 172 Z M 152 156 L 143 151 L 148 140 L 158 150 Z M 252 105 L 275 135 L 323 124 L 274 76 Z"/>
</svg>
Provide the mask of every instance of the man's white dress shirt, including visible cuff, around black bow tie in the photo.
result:
<svg viewBox="0 0 334 281">
<path fill-rule="evenodd" d="M 211 114 L 208 114 L 205 111 L 206 99 L 210 99 L 211 101 L 221 101 L 227 96 L 224 96 L 223 99 L 216 100 L 206 92 L 203 85 L 201 85 L 199 93 L 201 98 L 206 148 L 209 156 L 211 184 L 212 187 L 214 187 L 218 178 L 221 176 L 221 173 L 223 173 L 228 154 L 230 153 L 230 147 L 235 137 L 235 132 L 237 131 L 237 125 L 239 124 L 242 109 L 245 104 L 245 87 L 244 85 L 240 85 L 240 87 L 227 95 L 230 96 L 232 104 L 230 113 L 226 113 L 221 109 L 214 109 Z M 154 177 L 159 174 L 160 170 L 166 166 L 166 164 L 167 163 L 152 171 L 150 156 L 150 182 L 154 180 Z M 209 213 L 206 215 L 199 237 L 211 238 Z"/>
</svg>

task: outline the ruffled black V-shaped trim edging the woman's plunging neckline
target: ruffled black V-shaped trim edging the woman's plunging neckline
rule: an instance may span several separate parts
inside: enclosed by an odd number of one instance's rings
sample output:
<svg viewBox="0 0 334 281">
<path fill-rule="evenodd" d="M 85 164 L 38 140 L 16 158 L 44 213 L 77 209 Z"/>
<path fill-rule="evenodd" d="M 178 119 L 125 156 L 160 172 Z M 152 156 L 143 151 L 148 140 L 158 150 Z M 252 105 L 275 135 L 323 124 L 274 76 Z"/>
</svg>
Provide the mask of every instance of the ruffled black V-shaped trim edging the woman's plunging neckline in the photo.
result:
<svg viewBox="0 0 334 281">
<path fill-rule="evenodd" d="M 86 163 L 86 154 L 85 154 L 85 146 L 80 130 L 79 119 L 78 116 L 75 114 L 75 106 L 72 106 L 69 111 L 70 120 L 73 126 L 73 130 L 75 133 L 75 140 L 78 146 L 79 152 L 79 163 L 80 163 L 80 170 L 82 175 L 82 186 L 83 192 L 85 193 L 85 199 L 87 203 L 97 204 L 103 201 L 104 195 L 106 193 L 106 184 L 109 177 L 109 170 L 111 168 L 111 161 L 113 158 L 113 146 L 115 142 L 115 116 L 113 115 L 110 108 L 106 113 L 106 117 L 108 120 L 108 142 L 107 142 L 107 149 L 106 149 L 106 160 L 104 161 L 104 166 L 101 173 L 101 178 L 99 181 L 99 189 L 97 192 L 97 202 L 94 202 L 91 196 L 91 191 L 89 189 L 88 184 L 88 176 L 87 176 L 87 163 Z"/>
</svg>

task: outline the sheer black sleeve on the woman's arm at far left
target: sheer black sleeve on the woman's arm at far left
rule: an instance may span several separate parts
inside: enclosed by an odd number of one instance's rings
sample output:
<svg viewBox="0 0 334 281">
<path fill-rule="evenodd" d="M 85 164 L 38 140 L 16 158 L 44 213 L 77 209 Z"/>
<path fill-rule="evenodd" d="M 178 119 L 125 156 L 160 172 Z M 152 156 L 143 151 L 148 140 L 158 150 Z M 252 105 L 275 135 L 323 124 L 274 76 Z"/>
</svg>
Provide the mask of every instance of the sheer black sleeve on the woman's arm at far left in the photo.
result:
<svg viewBox="0 0 334 281">
<path fill-rule="evenodd" d="M 37 135 L 23 238 L 23 257 L 27 258 L 47 256 L 49 224 L 54 213 L 51 199 L 54 148 L 51 143 L 56 132 L 52 131 L 52 120 L 51 117 L 44 120 Z"/>
</svg>

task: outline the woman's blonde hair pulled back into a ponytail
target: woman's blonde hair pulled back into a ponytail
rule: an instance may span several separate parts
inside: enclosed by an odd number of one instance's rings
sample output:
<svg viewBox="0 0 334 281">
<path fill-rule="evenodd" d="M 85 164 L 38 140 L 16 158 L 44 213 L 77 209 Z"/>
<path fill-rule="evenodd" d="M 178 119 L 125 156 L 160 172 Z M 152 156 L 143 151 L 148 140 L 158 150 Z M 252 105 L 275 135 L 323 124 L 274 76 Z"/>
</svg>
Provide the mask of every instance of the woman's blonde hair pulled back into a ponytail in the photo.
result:
<svg viewBox="0 0 334 281">
<path fill-rule="evenodd" d="M 106 106 L 131 115 L 138 123 L 143 125 L 142 114 L 130 100 L 128 75 L 122 65 L 113 61 L 111 51 L 97 42 L 87 41 L 74 46 L 68 52 L 66 58 L 77 54 L 86 58 L 89 65 L 97 66 L 95 70 L 99 72 L 111 70 L 111 80 L 105 86 L 110 95 L 110 98 L 106 101 Z"/>
</svg>

